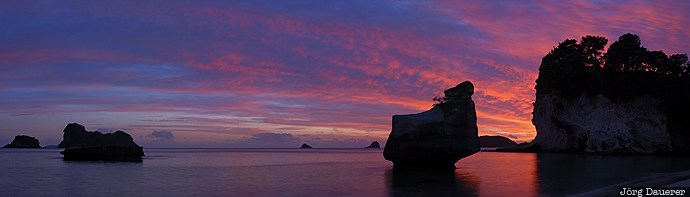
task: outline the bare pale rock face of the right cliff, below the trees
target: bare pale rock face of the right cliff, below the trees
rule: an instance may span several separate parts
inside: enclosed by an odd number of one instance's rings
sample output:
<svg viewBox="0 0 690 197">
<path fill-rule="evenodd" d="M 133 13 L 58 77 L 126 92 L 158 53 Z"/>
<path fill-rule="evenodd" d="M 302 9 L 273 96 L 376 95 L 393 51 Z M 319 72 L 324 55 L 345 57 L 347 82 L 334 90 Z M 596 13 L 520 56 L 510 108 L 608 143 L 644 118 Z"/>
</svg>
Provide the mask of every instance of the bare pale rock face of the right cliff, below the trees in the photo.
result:
<svg viewBox="0 0 690 197">
<path fill-rule="evenodd" d="M 661 100 L 648 95 L 614 103 L 602 95 L 538 94 L 532 123 L 538 151 L 670 153 Z"/>
</svg>

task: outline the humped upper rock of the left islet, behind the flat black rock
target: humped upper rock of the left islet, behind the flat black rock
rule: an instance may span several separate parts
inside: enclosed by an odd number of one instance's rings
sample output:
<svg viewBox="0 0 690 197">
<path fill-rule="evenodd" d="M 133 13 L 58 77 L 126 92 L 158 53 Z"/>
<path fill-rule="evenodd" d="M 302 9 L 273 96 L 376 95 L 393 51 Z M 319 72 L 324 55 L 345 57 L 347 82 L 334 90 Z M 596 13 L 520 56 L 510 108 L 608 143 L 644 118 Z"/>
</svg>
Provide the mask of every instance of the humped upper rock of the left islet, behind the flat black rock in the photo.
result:
<svg viewBox="0 0 690 197">
<path fill-rule="evenodd" d="M 103 134 L 98 131 L 86 131 L 84 126 L 77 123 L 68 124 L 63 130 L 62 142 L 59 148 L 90 147 L 90 146 L 139 146 L 131 135 L 124 131 Z"/>
</svg>

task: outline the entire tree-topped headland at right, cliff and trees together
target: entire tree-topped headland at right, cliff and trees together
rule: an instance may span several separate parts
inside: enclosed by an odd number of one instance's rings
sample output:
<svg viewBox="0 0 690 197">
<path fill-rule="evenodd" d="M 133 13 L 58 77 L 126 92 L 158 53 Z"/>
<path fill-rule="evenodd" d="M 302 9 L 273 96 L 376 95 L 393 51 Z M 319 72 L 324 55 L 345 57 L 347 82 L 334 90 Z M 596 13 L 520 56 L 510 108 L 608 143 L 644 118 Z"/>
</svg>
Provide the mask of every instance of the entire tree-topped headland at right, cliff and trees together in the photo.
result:
<svg viewBox="0 0 690 197">
<path fill-rule="evenodd" d="M 601 56 L 605 45 L 601 37 L 566 40 L 542 59 L 532 118 L 537 136 L 508 150 L 690 153 L 687 56 L 647 51 L 632 34 Z"/>
</svg>

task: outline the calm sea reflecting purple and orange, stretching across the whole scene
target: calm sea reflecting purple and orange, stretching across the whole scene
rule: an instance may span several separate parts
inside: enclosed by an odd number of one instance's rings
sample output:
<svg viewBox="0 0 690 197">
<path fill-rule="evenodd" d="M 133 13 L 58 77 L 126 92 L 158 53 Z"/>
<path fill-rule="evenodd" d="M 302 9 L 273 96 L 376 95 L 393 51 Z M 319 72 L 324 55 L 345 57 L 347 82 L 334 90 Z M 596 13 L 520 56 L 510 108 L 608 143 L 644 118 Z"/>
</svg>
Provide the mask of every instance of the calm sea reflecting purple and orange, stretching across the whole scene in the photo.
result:
<svg viewBox="0 0 690 197">
<path fill-rule="evenodd" d="M 141 163 L 0 149 L 2 196 L 561 196 L 690 169 L 690 159 L 480 152 L 454 173 L 393 172 L 382 150 L 145 149 Z"/>
</svg>

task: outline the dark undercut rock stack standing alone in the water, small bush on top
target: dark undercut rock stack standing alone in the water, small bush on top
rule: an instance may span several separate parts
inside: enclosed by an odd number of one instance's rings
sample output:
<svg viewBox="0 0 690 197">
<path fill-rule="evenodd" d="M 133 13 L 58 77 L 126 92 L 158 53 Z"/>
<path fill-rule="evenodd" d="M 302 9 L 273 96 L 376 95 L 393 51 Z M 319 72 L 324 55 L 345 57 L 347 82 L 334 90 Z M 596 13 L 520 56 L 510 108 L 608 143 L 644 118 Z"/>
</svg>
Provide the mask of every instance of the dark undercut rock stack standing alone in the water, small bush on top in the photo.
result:
<svg viewBox="0 0 690 197">
<path fill-rule="evenodd" d="M 393 116 L 383 156 L 394 169 L 452 170 L 458 160 L 479 152 L 474 86 L 465 81 L 444 94 L 428 111 Z"/>
</svg>

